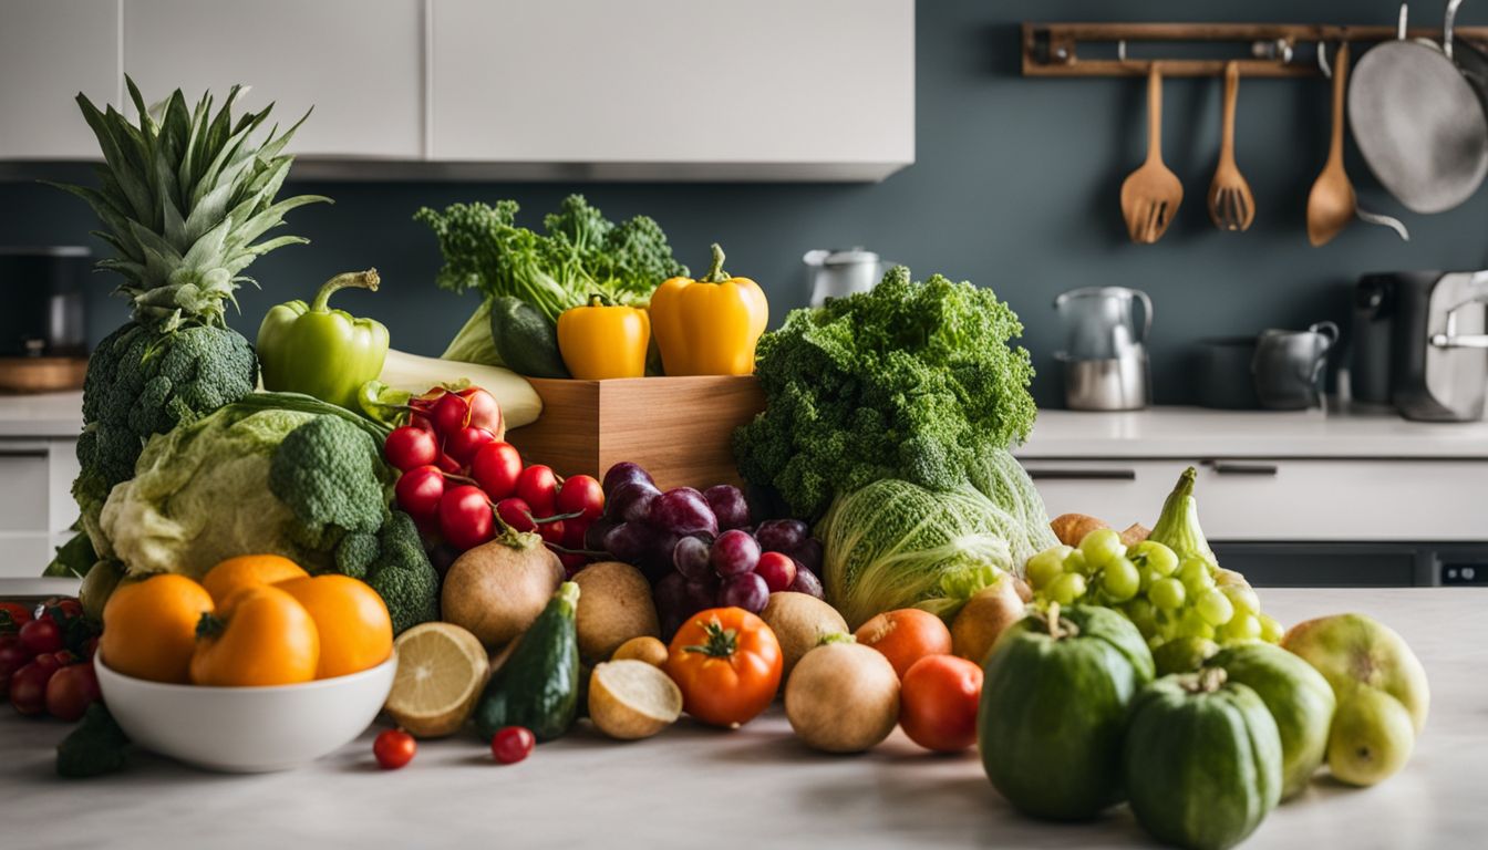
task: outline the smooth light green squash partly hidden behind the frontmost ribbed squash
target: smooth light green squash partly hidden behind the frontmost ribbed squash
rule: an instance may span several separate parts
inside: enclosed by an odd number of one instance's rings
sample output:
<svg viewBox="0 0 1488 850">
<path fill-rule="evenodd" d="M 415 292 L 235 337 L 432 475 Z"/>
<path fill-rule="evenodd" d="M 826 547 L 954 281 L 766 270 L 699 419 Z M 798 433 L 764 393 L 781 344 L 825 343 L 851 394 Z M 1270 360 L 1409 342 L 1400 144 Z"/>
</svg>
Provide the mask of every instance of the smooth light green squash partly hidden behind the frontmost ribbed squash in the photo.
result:
<svg viewBox="0 0 1488 850">
<path fill-rule="evenodd" d="M 1333 688 L 1302 658 L 1269 643 L 1222 649 L 1205 667 L 1225 670 L 1231 682 L 1254 691 L 1281 734 L 1281 799 L 1306 787 L 1327 755 L 1333 723 Z"/>
</svg>

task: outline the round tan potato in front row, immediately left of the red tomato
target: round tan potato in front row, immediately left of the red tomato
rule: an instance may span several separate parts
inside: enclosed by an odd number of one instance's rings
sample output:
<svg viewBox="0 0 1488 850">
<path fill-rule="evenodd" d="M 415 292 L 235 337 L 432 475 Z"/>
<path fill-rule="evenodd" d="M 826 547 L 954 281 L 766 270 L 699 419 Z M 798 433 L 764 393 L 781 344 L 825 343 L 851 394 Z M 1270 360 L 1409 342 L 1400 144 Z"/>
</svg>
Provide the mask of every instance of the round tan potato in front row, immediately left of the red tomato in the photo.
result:
<svg viewBox="0 0 1488 850">
<path fill-rule="evenodd" d="M 806 746 L 856 753 L 882 743 L 899 723 L 899 676 L 876 649 L 824 643 L 786 683 L 786 719 Z"/>
</svg>

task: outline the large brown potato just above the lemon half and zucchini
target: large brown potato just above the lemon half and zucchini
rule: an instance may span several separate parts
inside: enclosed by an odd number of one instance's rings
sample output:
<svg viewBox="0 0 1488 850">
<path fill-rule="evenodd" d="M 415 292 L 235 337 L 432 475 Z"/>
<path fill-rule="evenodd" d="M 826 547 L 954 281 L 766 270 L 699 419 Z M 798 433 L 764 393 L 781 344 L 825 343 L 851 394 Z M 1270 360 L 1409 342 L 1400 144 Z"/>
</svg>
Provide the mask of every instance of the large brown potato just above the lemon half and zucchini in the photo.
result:
<svg viewBox="0 0 1488 850">
<path fill-rule="evenodd" d="M 562 584 L 558 555 L 536 534 L 519 540 L 482 543 L 455 558 L 445 573 L 443 619 L 469 630 L 488 651 L 527 631 Z"/>
</svg>

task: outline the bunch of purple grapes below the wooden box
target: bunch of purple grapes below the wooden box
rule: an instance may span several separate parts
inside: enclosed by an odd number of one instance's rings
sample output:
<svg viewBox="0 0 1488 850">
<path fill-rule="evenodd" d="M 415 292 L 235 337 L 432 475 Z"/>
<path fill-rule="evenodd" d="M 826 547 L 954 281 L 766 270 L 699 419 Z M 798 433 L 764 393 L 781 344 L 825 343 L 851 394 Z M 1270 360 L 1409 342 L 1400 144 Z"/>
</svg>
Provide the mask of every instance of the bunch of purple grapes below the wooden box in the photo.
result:
<svg viewBox="0 0 1488 850">
<path fill-rule="evenodd" d="M 714 606 L 759 613 L 778 591 L 823 597 L 821 542 L 801 520 L 754 525 L 738 487 L 662 491 L 635 463 L 612 466 L 603 487 L 604 517 L 589 525 L 585 545 L 646 573 L 662 634 Z"/>
</svg>

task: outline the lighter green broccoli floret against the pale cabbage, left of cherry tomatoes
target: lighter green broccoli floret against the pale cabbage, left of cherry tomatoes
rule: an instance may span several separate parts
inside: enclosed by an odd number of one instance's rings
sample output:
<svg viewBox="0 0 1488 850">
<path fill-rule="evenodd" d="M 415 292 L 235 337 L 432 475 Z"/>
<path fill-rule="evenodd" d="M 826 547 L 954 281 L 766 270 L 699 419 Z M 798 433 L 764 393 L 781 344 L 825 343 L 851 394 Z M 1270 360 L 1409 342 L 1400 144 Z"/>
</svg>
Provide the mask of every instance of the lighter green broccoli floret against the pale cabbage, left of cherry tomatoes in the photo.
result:
<svg viewBox="0 0 1488 850">
<path fill-rule="evenodd" d="M 293 511 L 295 542 L 329 551 L 387 520 L 376 444 L 341 417 L 320 415 L 284 436 L 269 461 L 269 491 Z"/>
</svg>

